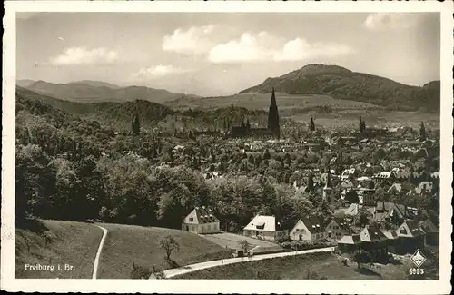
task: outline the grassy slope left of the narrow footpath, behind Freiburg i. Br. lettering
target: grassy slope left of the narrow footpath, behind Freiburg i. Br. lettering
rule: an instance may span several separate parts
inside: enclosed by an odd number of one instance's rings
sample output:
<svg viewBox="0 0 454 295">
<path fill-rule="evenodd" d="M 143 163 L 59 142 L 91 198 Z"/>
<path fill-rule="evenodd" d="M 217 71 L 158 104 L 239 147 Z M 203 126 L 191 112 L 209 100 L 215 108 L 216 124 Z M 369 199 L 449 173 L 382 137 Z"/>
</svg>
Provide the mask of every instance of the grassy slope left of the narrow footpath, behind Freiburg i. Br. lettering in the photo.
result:
<svg viewBox="0 0 454 295">
<path fill-rule="evenodd" d="M 15 230 L 15 277 L 33 279 L 90 279 L 94 256 L 103 235 L 93 224 L 74 221 L 42 221 L 33 231 Z M 51 238 L 46 246 L 45 236 Z M 30 251 L 28 251 L 28 247 Z M 54 265 L 54 272 L 25 270 L 25 263 Z M 57 264 L 74 266 L 74 271 L 57 271 Z"/>
</svg>

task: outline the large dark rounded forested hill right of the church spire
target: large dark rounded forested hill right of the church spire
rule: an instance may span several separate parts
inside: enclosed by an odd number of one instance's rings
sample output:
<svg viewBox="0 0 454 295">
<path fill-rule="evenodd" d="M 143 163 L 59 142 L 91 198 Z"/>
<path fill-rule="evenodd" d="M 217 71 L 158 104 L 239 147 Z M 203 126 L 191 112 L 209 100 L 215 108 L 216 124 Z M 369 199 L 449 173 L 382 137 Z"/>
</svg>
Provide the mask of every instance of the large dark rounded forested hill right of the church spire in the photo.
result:
<svg viewBox="0 0 454 295">
<path fill-rule="evenodd" d="M 337 65 L 308 64 L 301 69 L 267 78 L 240 93 L 327 94 L 333 98 L 387 106 L 390 109 L 439 112 L 440 85 L 400 84 L 377 75 L 352 72 Z"/>
</svg>

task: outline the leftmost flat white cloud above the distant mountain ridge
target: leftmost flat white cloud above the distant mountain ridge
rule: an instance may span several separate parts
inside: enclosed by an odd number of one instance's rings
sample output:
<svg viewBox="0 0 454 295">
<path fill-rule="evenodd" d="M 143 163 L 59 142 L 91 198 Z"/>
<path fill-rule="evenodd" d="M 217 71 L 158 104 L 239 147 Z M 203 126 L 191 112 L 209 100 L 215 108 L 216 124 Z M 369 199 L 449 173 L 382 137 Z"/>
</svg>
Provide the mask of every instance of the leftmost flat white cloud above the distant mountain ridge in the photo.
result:
<svg viewBox="0 0 454 295">
<path fill-rule="evenodd" d="M 53 65 L 74 64 L 112 64 L 118 60 L 118 54 L 114 50 L 104 47 L 87 49 L 85 47 L 70 47 L 64 49 L 64 53 L 51 58 Z"/>
</svg>

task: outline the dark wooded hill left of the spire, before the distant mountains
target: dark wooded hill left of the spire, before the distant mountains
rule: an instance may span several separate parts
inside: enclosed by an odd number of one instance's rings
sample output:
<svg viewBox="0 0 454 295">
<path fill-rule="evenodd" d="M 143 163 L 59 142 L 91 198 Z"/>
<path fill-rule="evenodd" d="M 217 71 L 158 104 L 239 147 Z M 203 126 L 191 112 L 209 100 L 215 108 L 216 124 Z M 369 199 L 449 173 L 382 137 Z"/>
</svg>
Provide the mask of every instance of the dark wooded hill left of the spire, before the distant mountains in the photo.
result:
<svg viewBox="0 0 454 295">
<path fill-rule="evenodd" d="M 252 122 L 258 122 L 266 118 L 266 112 L 248 110 L 241 107 L 224 107 L 215 110 L 187 109 L 175 111 L 160 103 L 152 103 L 144 100 L 134 100 L 124 103 L 101 102 L 101 103 L 77 103 L 55 98 L 50 95 L 35 93 L 20 86 L 16 86 L 16 111 L 26 109 L 31 113 L 51 116 L 58 114 L 75 115 L 79 119 L 90 119 L 101 125 L 120 129 L 129 129 L 133 115 L 138 114 L 143 127 L 156 126 L 159 123 L 179 123 L 188 128 L 212 129 L 222 128 L 224 121 L 232 124 L 241 123 L 246 117 Z M 123 128 L 121 127 L 123 126 Z M 170 126 L 162 126 L 163 128 Z M 178 127 L 178 126 L 177 126 Z"/>
</svg>

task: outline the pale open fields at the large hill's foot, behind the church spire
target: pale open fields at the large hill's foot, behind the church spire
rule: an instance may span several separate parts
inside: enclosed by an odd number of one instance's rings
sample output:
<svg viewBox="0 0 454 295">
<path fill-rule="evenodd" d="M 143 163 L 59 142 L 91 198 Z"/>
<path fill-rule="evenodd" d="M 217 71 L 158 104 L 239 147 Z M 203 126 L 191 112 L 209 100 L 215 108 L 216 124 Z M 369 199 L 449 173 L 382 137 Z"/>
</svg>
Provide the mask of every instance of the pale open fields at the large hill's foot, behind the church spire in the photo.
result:
<svg viewBox="0 0 454 295">
<path fill-rule="evenodd" d="M 270 93 L 242 93 L 225 97 L 183 98 L 164 104 L 175 109 L 188 107 L 214 109 L 234 104 L 251 110 L 268 111 L 270 99 Z M 316 124 L 321 124 L 325 128 L 338 126 L 357 128 L 360 116 L 366 120 L 368 126 L 410 125 L 419 128 L 420 122 L 424 121 L 429 128 L 439 128 L 439 113 L 389 111 L 370 103 L 334 99 L 328 95 L 317 94 L 276 93 L 276 100 L 282 118 L 308 123 L 312 116 L 317 119 Z M 316 106 L 330 106 L 333 112 L 317 113 L 311 110 Z"/>
</svg>

